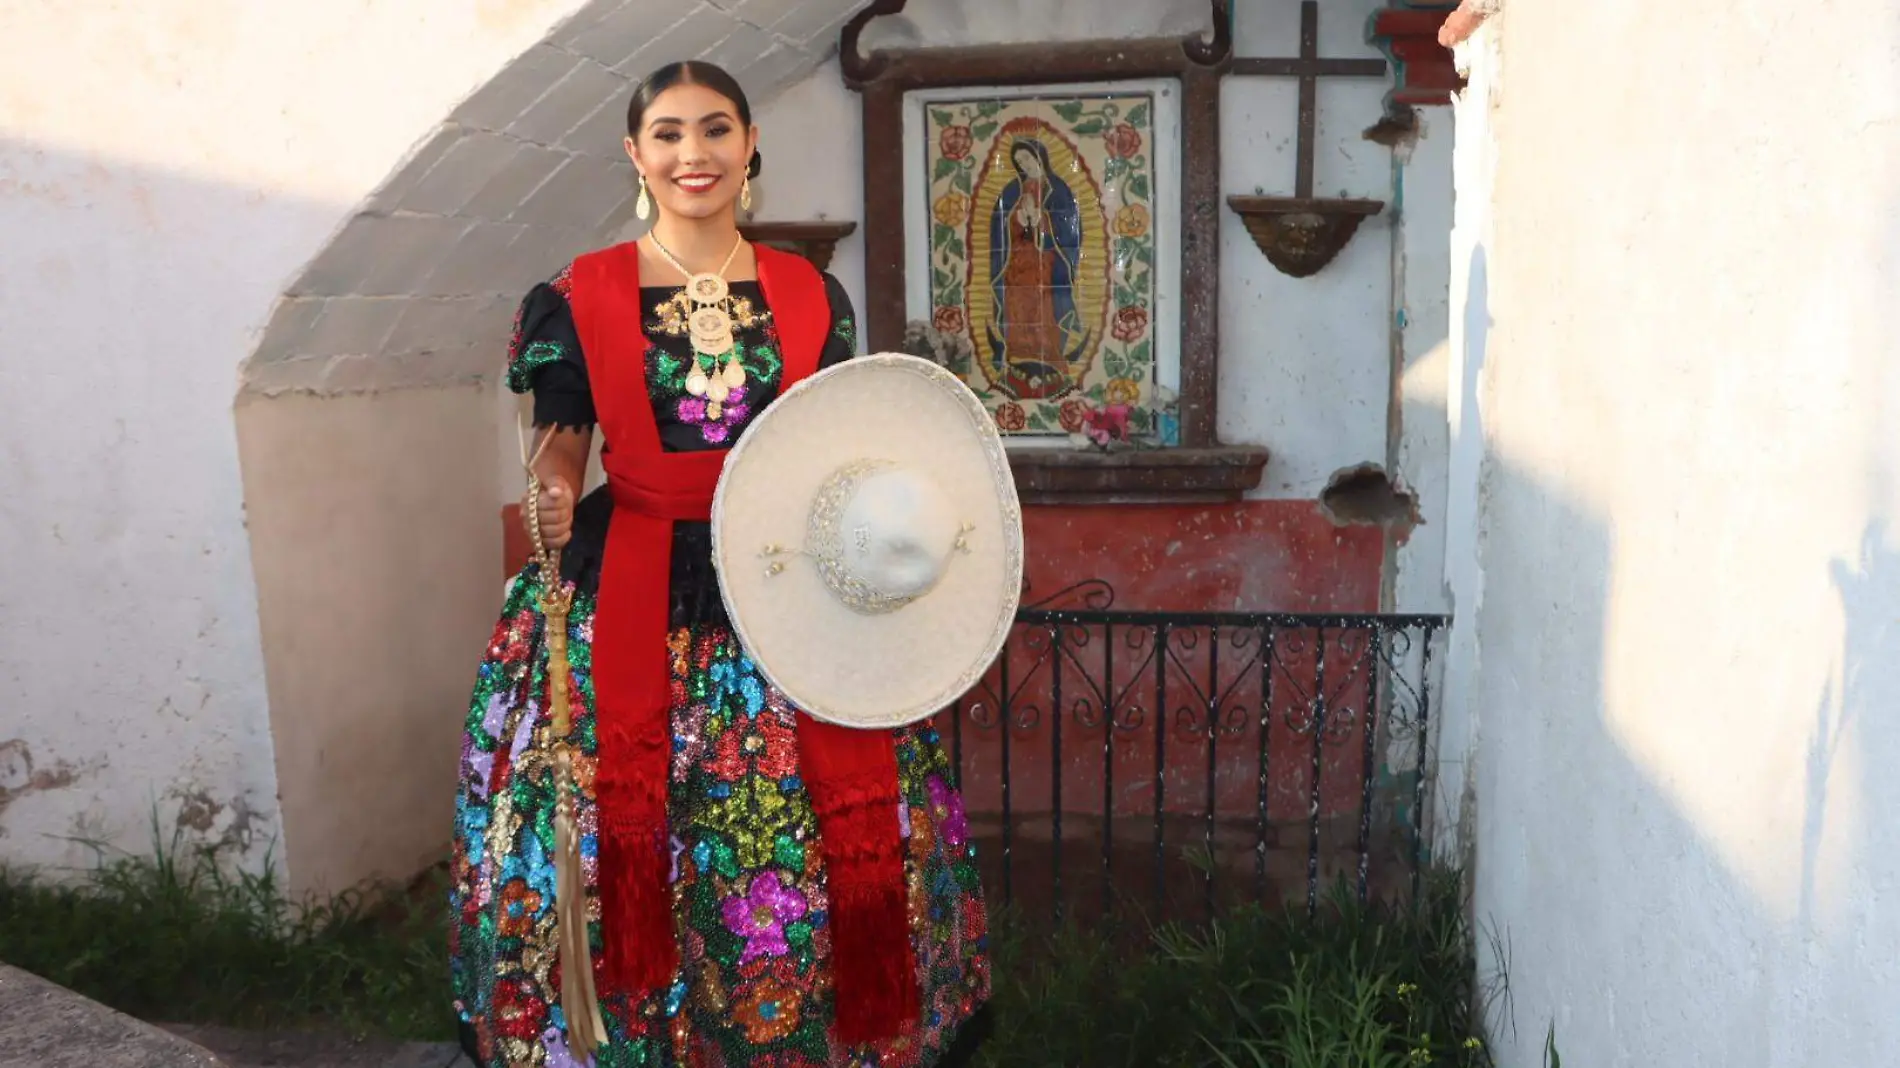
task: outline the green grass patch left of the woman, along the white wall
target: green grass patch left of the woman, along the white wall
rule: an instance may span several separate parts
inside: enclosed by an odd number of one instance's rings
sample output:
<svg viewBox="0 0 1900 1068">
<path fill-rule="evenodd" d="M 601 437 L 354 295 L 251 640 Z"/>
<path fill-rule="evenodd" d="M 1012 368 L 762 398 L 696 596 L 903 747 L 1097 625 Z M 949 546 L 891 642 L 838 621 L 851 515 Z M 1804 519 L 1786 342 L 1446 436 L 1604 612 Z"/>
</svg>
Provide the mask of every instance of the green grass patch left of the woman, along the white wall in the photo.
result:
<svg viewBox="0 0 1900 1068">
<path fill-rule="evenodd" d="M 160 846 L 76 886 L 0 868 L 0 960 L 148 1020 L 454 1038 L 439 878 L 291 906 Z"/>
</svg>

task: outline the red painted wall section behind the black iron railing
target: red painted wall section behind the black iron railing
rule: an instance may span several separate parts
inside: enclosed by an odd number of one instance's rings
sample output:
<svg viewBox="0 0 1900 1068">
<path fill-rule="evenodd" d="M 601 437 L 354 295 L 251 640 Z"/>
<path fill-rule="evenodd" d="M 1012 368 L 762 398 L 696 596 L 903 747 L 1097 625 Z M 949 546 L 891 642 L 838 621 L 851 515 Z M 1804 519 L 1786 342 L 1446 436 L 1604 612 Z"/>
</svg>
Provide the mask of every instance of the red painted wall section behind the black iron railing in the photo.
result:
<svg viewBox="0 0 1900 1068">
<path fill-rule="evenodd" d="M 1115 591 L 1117 610 L 1345 614 L 1379 608 L 1383 532 L 1338 526 L 1311 500 L 1028 507 L 1022 521 L 1028 602 L 1104 580 Z M 1066 597 L 1054 606 L 1085 604 Z M 1167 813 L 1201 815 L 1212 800 L 1224 819 L 1252 819 L 1262 794 L 1260 711 L 1271 707 L 1265 734 L 1269 815 L 1296 821 L 1313 806 L 1315 773 L 1311 734 L 1294 726 L 1311 716 L 1311 696 L 1320 682 L 1334 722 L 1317 777 L 1319 808 L 1357 811 L 1364 754 L 1358 715 L 1370 675 L 1362 639 L 1341 646 L 1334 633 L 1324 650 L 1324 680 L 1319 678 L 1320 637 L 1313 631 L 1277 631 L 1277 644 L 1267 650 L 1260 631 L 1182 629 L 1165 656 L 1146 629 L 1066 627 L 1062 648 L 1056 640 L 1047 629 L 1018 629 L 1009 644 L 1013 813 L 1051 811 L 1060 775 L 1064 811 L 1100 815 L 1108 806 L 1127 817 L 1153 813 L 1159 802 Z M 1269 659 L 1273 669 L 1264 675 Z M 990 671 L 961 724 L 971 811 L 1003 808 L 1001 675 L 1001 665 Z M 1113 696 L 1100 686 L 1104 678 L 1113 678 Z M 1218 720 L 1212 739 L 1206 732 L 1210 705 Z M 1113 711 L 1113 732 L 1106 728 L 1104 709 Z M 1157 715 L 1157 709 L 1165 711 Z M 948 741 L 958 741 L 948 718 L 940 730 Z"/>
</svg>

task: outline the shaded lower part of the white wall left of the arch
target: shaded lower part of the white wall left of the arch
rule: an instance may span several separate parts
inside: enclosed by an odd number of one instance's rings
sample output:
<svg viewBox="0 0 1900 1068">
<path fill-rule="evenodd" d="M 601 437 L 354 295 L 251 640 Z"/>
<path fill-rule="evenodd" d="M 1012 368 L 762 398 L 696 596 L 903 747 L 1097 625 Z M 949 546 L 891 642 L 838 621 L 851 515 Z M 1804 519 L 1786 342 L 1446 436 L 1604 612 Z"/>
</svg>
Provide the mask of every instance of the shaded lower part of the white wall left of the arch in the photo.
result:
<svg viewBox="0 0 1900 1068">
<path fill-rule="evenodd" d="M 236 369 L 346 205 L 0 139 L 8 863 L 277 836 Z"/>
</svg>

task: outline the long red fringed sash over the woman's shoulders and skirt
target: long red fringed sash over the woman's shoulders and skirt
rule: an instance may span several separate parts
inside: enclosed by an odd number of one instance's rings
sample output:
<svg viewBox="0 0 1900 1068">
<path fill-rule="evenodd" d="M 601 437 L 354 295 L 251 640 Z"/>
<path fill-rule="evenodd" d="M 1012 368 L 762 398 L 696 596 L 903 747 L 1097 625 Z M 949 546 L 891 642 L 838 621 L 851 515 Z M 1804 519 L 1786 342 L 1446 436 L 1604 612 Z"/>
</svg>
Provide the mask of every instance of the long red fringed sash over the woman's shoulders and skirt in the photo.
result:
<svg viewBox="0 0 1900 1068">
<path fill-rule="evenodd" d="M 830 302 L 808 260 L 764 245 L 754 253 L 785 359 L 783 391 L 817 371 Z M 570 277 L 614 498 L 593 637 L 600 981 L 602 994 L 644 996 L 678 971 L 667 783 L 671 709 L 686 696 L 673 692 L 667 652 L 673 524 L 711 517 L 726 450 L 661 448 L 646 390 L 638 245 L 580 257 Z M 830 891 L 838 1038 L 895 1038 L 918 1017 L 895 737 L 802 716 L 798 749 Z"/>
</svg>

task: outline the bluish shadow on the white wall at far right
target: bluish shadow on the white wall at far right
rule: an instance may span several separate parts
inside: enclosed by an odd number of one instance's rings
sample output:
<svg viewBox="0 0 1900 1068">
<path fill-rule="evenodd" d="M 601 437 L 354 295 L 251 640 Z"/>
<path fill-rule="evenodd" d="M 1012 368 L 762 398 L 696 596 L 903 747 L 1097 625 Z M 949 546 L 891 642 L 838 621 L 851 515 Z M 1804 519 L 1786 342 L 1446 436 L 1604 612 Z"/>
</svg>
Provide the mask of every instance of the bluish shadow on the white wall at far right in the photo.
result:
<svg viewBox="0 0 1900 1068">
<path fill-rule="evenodd" d="M 1653 758 L 1638 762 L 1611 722 L 1606 675 L 1630 640 L 1619 640 L 1609 614 L 1619 564 L 1630 566 L 1619 561 L 1617 540 L 1642 534 L 1619 530 L 1615 517 L 1514 464 L 1495 439 L 1484 450 L 1476 409 L 1490 325 L 1482 249 L 1471 285 L 1472 357 L 1452 469 L 1472 460 L 1461 447 L 1478 441 L 1482 669 L 1474 659 L 1455 663 L 1467 667 L 1467 701 L 1484 715 L 1472 876 L 1476 918 L 1497 939 L 1484 946 L 1482 967 L 1488 977 L 1505 973 L 1490 1019 L 1497 1062 L 1545 1064 L 1548 1024 L 1566 1058 L 1579 1064 L 1890 1060 L 1900 1043 L 1892 1013 L 1900 965 L 1890 952 L 1900 944 L 1900 777 L 1890 773 L 1900 766 L 1892 715 L 1900 707 L 1900 515 L 1870 519 L 1852 559 L 1822 564 L 1837 595 L 1841 644 L 1834 678 L 1814 703 L 1767 718 L 1737 709 L 1738 724 L 1809 735 L 1805 773 L 1758 783 L 1763 796 L 1786 794 L 1788 806 L 1801 806 L 1799 842 L 1776 840 L 1763 827 L 1742 844 L 1761 857 L 1799 855 L 1799 872 L 1788 874 L 1790 886 L 1797 880 L 1797 895 L 1790 893 L 1797 905 L 1776 910 L 1723 857 L 1721 848 L 1735 842 L 1718 844 L 1685 811 L 1683 785 L 1666 779 L 1672 770 Z M 1699 566 L 1718 564 L 1710 557 Z M 1786 620 L 1790 633 L 1828 623 Z M 1720 640 L 1687 625 L 1678 639 Z M 1737 654 L 1737 671 L 1763 671 L 1744 659 Z M 1668 713 L 1657 705 L 1640 709 Z M 1712 718 L 1708 709 L 1683 711 Z M 1721 758 L 1721 741 L 1708 739 L 1708 760 Z"/>
</svg>

